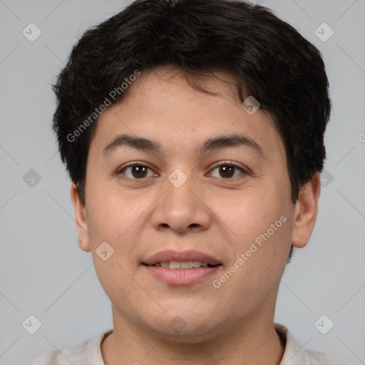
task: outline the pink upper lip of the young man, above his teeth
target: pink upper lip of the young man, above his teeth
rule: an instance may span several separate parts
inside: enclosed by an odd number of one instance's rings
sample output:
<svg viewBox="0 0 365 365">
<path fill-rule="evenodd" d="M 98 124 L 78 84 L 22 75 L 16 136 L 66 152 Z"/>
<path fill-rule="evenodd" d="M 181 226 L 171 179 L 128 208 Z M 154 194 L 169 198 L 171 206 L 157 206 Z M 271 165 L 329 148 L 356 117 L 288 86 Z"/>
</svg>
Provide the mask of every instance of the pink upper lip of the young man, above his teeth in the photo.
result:
<svg viewBox="0 0 365 365">
<path fill-rule="evenodd" d="M 189 250 L 178 252 L 174 250 L 165 250 L 156 252 L 155 254 L 145 259 L 143 264 L 154 265 L 158 262 L 169 262 L 169 261 L 178 261 L 178 262 L 186 262 L 186 261 L 198 261 L 198 262 L 206 262 L 210 265 L 220 264 L 218 259 L 212 257 L 211 255 L 207 255 L 203 252 Z"/>
</svg>

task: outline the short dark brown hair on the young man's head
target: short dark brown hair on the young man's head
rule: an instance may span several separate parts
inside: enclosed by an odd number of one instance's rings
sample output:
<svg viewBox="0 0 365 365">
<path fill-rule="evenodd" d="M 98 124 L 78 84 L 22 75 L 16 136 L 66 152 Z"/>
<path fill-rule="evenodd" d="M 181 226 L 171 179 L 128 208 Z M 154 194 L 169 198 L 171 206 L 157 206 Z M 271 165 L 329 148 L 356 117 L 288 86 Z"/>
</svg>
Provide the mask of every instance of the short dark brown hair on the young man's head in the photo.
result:
<svg viewBox="0 0 365 365">
<path fill-rule="evenodd" d="M 192 76 L 227 71 L 237 80 L 240 101 L 252 95 L 271 113 L 284 140 L 295 203 L 326 156 L 331 102 L 318 49 L 269 9 L 245 1 L 138 0 L 88 29 L 53 85 L 53 130 L 83 204 L 97 123 L 90 116 L 135 70 L 167 64 Z M 128 89 L 110 103 L 127 96 Z"/>
</svg>

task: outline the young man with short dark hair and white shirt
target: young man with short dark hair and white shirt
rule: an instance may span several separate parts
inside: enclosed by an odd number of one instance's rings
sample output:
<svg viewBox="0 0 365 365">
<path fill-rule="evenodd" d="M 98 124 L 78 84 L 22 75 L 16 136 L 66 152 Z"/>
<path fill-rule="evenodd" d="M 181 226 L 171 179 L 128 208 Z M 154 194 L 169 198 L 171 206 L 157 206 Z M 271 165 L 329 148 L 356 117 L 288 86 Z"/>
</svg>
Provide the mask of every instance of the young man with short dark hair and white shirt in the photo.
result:
<svg viewBox="0 0 365 365">
<path fill-rule="evenodd" d="M 317 48 L 262 6 L 141 0 L 83 35 L 54 89 L 113 329 L 27 364 L 336 364 L 274 324 L 317 217 Z"/>
</svg>

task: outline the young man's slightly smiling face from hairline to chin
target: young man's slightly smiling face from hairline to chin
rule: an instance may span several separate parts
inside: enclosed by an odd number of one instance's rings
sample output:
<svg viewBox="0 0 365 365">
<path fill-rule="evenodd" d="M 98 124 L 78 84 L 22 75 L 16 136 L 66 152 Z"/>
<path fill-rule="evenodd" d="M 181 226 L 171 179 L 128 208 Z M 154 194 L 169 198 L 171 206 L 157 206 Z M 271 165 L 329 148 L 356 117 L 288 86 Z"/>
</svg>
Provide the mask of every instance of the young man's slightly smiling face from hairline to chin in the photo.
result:
<svg viewBox="0 0 365 365">
<path fill-rule="evenodd" d="M 98 120 L 85 207 L 71 190 L 114 322 L 182 341 L 272 319 L 290 247 L 313 228 L 272 118 L 219 76 L 200 81 L 209 95 L 176 69 L 143 72 Z"/>
</svg>

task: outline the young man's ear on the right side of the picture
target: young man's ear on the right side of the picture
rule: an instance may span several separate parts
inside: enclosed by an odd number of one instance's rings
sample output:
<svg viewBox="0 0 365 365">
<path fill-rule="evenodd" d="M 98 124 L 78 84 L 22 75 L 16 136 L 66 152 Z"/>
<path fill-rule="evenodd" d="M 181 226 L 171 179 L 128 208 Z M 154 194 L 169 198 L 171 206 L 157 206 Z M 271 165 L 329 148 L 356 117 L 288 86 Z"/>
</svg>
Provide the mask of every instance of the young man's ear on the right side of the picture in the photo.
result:
<svg viewBox="0 0 365 365">
<path fill-rule="evenodd" d="M 299 200 L 295 207 L 292 245 L 302 248 L 307 245 L 317 220 L 318 200 L 321 192 L 319 173 L 305 183 L 299 191 Z"/>
</svg>

